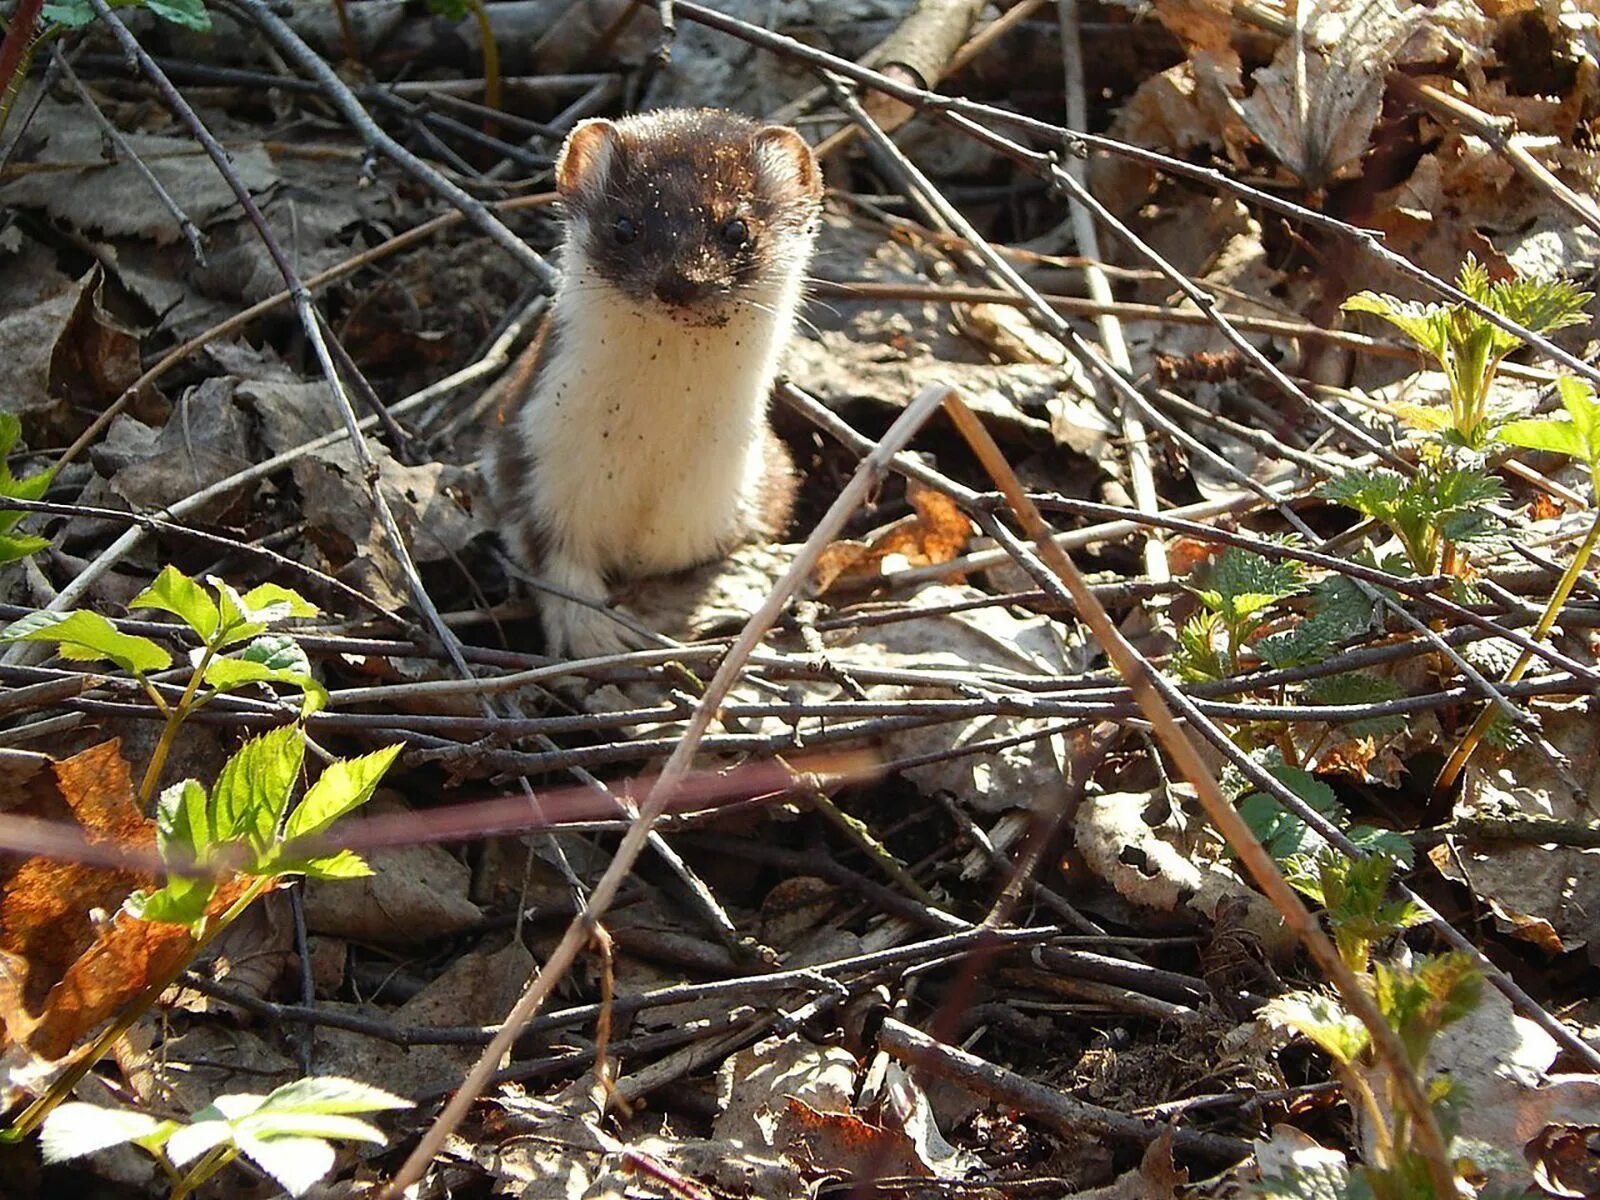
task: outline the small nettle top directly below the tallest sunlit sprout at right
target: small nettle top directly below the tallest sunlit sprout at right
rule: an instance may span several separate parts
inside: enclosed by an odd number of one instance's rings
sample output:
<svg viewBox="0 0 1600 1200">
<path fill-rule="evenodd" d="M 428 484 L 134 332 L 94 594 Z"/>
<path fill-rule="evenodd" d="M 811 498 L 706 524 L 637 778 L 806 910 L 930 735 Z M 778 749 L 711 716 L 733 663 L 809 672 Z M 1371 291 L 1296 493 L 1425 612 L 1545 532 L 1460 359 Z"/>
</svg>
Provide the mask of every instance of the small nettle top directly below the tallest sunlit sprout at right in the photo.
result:
<svg viewBox="0 0 1600 1200">
<path fill-rule="evenodd" d="M 1453 547 L 1493 538 L 1499 523 L 1490 506 L 1506 499 L 1493 475 L 1440 464 L 1410 478 L 1386 469 L 1349 470 L 1323 483 L 1317 494 L 1384 525 L 1416 574 L 1448 571 Z"/>
</svg>

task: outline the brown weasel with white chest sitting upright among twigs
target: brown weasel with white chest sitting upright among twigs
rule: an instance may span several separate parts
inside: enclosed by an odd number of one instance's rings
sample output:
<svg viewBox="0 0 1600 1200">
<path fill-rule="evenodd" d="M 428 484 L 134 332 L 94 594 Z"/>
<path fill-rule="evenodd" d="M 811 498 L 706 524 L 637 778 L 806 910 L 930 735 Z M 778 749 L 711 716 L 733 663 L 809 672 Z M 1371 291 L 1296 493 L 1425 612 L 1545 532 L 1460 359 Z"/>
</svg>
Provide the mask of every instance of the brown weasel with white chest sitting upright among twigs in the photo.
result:
<svg viewBox="0 0 1600 1200">
<path fill-rule="evenodd" d="M 766 402 L 822 178 L 790 128 L 662 109 L 579 123 L 555 182 L 562 278 L 486 469 L 514 554 L 603 603 L 608 581 L 710 562 L 787 523 L 794 472 Z M 635 643 L 554 594 L 541 614 L 550 654 Z"/>
</svg>

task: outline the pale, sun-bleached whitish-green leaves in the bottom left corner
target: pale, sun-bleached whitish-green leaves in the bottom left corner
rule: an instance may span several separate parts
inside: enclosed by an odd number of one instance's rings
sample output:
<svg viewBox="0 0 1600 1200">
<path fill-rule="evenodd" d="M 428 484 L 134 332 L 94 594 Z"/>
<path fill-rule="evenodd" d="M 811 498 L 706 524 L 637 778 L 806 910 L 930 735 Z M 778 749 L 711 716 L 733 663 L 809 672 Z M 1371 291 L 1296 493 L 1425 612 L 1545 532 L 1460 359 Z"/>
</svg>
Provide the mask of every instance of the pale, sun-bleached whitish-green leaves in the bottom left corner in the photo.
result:
<svg viewBox="0 0 1600 1200">
<path fill-rule="evenodd" d="M 138 1146 L 166 1173 L 171 1200 L 192 1195 L 243 1155 L 290 1195 L 304 1195 L 333 1170 L 331 1142 L 387 1141 L 363 1115 L 408 1107 L 411 1101 L 336 1075 L 285 1083 L 266 1096 L 218 1096 L 187 1122 L 72 1102 L 50 1114 L 40 1149 L 46 1163 L 59 1163 L 112 1146 Z"/>
</svg>

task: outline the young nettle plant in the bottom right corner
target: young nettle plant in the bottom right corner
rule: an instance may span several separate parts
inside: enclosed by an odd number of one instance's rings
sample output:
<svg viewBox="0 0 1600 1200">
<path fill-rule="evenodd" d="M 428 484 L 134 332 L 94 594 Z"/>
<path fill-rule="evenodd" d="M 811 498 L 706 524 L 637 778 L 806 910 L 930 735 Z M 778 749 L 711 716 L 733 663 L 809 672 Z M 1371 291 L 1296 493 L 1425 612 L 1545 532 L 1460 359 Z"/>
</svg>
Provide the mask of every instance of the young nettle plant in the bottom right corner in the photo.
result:
<svg viewBox="0 0 1600 1200">
<path fill-rule="evenodd" d="M 1467 1016 L 1478 1002 L 1482 974 L 1469 954 L 1418 955 L 1410 963 L 1373 960 L 1373 949 L 1424 914 L 1405 899 L 1390 899 L 1395 864 L 1382 854 L 1354 861 L 1326 850 L 1290 864 L 1296 888 L 1323 904 L 1334 942 L 1346 963 L 1366 982 L 1384 1021 L 1398 1035 L 1406 1066 L 1427 1082 L 1427 1096 L 1448 1134 L 1459 1109 L 1461 1088 L 1448 1075 L 1427 1077 L 1427 1054 L 1446 1026 Z M 1416 1149 L 1392 1075 L 1376 1069 L 1366 1027 L 1331 992 L 1282 995 L 1262 1010 L 1274 1024 L 1315 1043 L 1331 1061 L 1344 1094 L 1366 1126 L 1368 1160 L 1336 1170 L 1336 1178 L 1293 1174 L 1264 1179 L 1264 1195 L 1288 1200 L 1376 1197 L 1376 1200 L 1454 1200 L 1438 1197 L 1422 1154 Z M 1482 1147 L 1456 1141 L 1450 1157 L 1470 1166 Z"/>
</svg>

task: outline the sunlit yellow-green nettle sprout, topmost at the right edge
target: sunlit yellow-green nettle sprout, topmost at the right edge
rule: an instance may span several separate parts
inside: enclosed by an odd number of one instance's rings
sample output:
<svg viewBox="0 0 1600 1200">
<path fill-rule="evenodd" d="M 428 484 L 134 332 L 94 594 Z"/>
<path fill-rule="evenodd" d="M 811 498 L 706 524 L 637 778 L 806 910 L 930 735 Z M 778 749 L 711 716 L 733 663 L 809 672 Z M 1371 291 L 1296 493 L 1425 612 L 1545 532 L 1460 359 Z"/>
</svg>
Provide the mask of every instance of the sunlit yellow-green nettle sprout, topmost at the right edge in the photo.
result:
<svg viewBox="0 0 1600 1200">
<path fill-rule="evenodd" d="M 1461 266 L 1456 286 L 1485 309 L 1541 336 L 1587 320 L 1584 306 L 1590 293 L 1565 280 L 1490 283 L 1488 272 L 1470 254 Z M 1402 421 L 1466 450 L 1482 451 L 1490 443 L 1496 426 L 1509 416 L 1493 403 L 1494 374 L 1506 355 L 1522 347 L 1522 338 L 1506 333 L 1466 304 L 1419 304 L 1362 291 L 1344 301 L 1344 309 L 1382 317 L 1445 373 L 1448 408 L 1400 405 L 1395 414 Z"/>
</svg>

